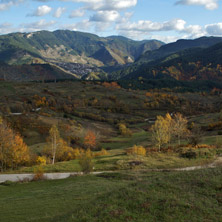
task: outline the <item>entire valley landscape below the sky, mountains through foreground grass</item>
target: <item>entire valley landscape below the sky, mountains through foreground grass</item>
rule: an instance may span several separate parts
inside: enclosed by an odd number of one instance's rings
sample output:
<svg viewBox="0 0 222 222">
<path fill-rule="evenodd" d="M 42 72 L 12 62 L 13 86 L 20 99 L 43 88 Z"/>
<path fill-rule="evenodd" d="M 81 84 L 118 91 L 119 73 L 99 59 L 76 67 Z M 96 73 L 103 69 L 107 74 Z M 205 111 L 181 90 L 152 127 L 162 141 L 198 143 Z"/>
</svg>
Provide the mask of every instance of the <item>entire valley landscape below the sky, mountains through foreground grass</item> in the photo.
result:
<svg viewBox="0 0 222 222">
<path fill-rule="evenodd" d="M 219 221 L 221 41 L 0 36 L 0 221 Z"/>
</svg>

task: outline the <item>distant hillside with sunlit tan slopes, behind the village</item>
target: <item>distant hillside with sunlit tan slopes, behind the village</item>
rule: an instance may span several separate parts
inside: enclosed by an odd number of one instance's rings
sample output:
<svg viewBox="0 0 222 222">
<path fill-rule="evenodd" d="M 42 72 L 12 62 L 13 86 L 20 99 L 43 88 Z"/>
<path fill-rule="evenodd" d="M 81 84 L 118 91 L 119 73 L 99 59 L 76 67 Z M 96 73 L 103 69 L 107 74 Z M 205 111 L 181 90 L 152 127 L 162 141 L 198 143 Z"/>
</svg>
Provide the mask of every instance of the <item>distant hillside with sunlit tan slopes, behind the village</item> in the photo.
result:
<svg viewBox="0 0 222 222">
<path fill-rule="evenodd" d="M 157 40 L 133 41 L 121 36 L 102 38 L 94 34 L 57 30 L 12 33 L 0 36 L 0 60 L 9 64 L 68 62 L 112 66 L 133 62 L 148 50 L 163 45 Z M 108 59 L 103 55 L 108 54 Z M 118 55 L 118 56 L 117 56 Z M 102 59 L 101 59 L 102 58 Z"/>
</svg>

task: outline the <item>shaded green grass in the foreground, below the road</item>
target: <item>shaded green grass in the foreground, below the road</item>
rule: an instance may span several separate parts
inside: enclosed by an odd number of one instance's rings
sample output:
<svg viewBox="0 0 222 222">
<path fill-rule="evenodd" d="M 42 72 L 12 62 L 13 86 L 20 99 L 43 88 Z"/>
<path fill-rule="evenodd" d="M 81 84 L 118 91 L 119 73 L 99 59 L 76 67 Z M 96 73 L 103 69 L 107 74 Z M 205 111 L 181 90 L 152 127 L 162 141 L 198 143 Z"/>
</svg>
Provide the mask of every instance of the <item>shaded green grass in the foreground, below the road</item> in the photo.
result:
<svg viewBox="0 0 222 222">
<path fill-rule="evenodd" d="M 222 168 L 0 185 L 0 221 L 221 221 Z"/>
</svg>

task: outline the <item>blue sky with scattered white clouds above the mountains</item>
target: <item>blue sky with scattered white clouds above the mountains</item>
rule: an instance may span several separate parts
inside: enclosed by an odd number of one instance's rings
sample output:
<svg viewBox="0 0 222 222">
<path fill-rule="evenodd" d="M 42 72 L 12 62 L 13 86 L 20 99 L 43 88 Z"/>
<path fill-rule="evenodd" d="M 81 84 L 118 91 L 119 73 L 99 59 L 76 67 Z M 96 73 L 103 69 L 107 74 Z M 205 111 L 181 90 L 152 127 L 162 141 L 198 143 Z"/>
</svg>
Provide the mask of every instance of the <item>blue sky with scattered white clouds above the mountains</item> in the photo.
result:
<svg viewBox="0 0 222 222">
<path fill-rule="evenodd" d="M 164 42 L 222 36 L 222 1 L 0 0 L 0 34 L 57 29 Z"/>
</svg>

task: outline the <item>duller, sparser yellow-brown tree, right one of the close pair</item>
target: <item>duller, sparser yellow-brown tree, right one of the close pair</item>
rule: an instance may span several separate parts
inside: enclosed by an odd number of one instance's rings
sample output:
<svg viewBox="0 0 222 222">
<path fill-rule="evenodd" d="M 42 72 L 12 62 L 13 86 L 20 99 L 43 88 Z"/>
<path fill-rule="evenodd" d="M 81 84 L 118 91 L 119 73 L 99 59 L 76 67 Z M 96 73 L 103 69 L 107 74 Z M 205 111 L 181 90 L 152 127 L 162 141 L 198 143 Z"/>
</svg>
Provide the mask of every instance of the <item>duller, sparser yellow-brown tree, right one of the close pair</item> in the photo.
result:
<svg viewBox="0 0 222 222">
<path fill-rule="evenodd" d="M 180 113 L 176 113 L 173 118 L 173 135 L 178 138 L 178 144 L 181 143 L 181 138 L 187 134 L 187 119 Z"/>
</svg>

